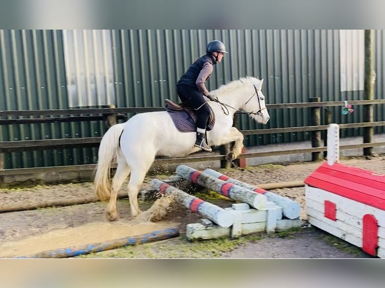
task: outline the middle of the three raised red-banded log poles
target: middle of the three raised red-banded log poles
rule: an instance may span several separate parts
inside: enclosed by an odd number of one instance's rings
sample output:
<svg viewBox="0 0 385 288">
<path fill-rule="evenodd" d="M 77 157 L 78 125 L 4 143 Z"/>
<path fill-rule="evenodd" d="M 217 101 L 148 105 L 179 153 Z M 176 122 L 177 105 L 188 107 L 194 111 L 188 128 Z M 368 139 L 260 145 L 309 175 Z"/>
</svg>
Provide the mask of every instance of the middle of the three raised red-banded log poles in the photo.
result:
<svg viewBox="0 0 385 288">
<path fill-rule="evenodd" d="M 247 203 L 255 209 L 264 209 L 266 207 L 267 200 L 262 194 L 254 193 L 233 183 L 217 179 L 186 165 L 179 165 L 176 167 L 176 174 L 191 181 L 192 183 L 218 192 L 223 196 L 239 202 Z"/>
</svg>

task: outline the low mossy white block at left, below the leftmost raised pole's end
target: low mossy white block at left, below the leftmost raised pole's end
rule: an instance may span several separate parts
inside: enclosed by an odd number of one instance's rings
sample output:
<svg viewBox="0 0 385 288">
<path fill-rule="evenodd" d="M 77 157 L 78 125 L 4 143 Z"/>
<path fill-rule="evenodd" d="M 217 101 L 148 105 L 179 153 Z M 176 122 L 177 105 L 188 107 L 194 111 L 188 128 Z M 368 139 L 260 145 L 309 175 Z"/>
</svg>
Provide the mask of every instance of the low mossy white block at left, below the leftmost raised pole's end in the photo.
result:
<svg viewBox="0 0 385 288">
<path fill-rule="evenodd" d="M 224 228 L 218 225 L 202 225 L 191 223 L 186 225 L 186 237 L 188 240 L 208 240 L 230 236 L 230 227 Z"/>
</svg>

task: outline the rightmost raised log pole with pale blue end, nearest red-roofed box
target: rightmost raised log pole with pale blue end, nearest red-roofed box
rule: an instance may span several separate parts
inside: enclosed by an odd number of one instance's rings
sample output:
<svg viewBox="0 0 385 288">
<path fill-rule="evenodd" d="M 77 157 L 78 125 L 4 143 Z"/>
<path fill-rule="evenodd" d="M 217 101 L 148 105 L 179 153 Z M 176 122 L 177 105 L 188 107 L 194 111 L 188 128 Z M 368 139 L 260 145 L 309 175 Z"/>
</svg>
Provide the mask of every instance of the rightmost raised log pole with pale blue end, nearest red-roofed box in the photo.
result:
<svg viewBox="0 0 385 288">
<path fill-rule="evenodd" d="M 296 219 L 301 215 L 300 204 L 298 204 L 297 202 L 291 199 L 266 191 L 264 189 L 260 189 L 250 184 L 235 180 L 233 178 L 230 178 L 212 169 L 206 169 L 203 171 L 203 173 L 264 195 L 268 201 L 271 201 L 274 204 L 282 207 L 282 214 L 288 219 Z"/>
</svg>

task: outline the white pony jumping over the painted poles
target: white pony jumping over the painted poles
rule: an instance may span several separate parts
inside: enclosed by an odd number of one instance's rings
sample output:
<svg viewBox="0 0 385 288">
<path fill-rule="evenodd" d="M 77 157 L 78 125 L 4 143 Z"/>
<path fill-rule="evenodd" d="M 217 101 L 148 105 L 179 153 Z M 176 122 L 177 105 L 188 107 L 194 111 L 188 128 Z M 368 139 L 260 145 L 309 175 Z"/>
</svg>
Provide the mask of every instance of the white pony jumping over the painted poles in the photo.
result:
<svg viewBox="0 0 385 288">
<path fill-rule="evenodd" d="M 217 101 L 208 101 L 215 114 L 215 125 L 207 131 L 209 146 L 235 142 L 228 156 L 236 159 L 243 148 L 243 134 L 233 127 L 234 113 L 245 111 L 259 123 L 266 124 L 269 113 L 262 94 L 263 79 L 254 77 L 234 80 L 213 91 Z M 123 131 L 123 132 L 122 132 Z M 196 132 L 180 132 L 167 111 L 139 113 L 125 123 L 113 125 L 103 136 L 94 178 L 94 195 L 110 202 L 106 217 L 118 218 L 116 200 L 123 182 L 130 175 L 128 196 L 131 215 L 141 211 L 138 205 L 139 188 L 156 156 L 180 157 L 198 152 L 194 147 Z M 110 166 L 116 158 L 117 170 L 111 181 Z"/>
</svg>

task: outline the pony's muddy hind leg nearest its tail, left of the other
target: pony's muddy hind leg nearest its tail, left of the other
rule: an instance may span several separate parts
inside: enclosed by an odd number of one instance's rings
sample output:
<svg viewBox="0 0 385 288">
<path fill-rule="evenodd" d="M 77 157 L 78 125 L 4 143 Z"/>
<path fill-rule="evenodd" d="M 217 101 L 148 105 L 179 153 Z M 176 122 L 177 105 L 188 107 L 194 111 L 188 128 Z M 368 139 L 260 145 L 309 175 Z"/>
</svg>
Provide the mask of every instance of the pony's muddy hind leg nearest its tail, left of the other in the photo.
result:
<svg viewBox="0 0 385 288">
<path fill-rule="evenodd" d="M 115 221 L 116 219 L 118 219 L 118 212 L 116 210 L 116 200 L 118 197 L 118 191 L 122 187 L 123 182 L 127 179 L 129 174 L 130 168 L 127 166 L 126 161 L 122 156 L 121 161 L 118 160 L 118 167 L 112 179 L 111 198 L 106 209 L 106 218 L 109 221 Z"/>
</svg>

